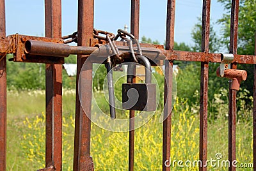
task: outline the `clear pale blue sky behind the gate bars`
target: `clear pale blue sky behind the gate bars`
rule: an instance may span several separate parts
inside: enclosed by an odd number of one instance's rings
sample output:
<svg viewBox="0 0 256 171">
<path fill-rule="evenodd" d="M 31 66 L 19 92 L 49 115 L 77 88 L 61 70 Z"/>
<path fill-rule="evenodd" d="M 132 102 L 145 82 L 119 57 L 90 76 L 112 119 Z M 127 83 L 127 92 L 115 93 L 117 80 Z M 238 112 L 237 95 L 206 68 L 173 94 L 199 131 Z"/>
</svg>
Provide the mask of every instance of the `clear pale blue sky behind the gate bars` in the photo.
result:
<svg viewBox="0 0 256 171">
<path fill-rule="evenodd" d="M 164 43 L 167 0 L 141 0 L 140 38 L 146 36 Z M 116 33 L 130 25 L 130 0 L 95 0 L 94 27 Z M 109 9 L 109 10 L 108 10 Z M 217 0 L 211 1 L 211 20 L 216 22 L 223 13 Z M 19 15 L 17 15 L 19 14 Z M 202 0 L 176 0 L 175 41 L 193 45 L 191 31 L 202 15 Z M 220 26 L 214 29 L 218 32 Z M 77 29 L 77 1 L 62 0 L 62 34 Z M 6 0 L 6 34 L 44 36 L 44 0 Z"/>
</svg>

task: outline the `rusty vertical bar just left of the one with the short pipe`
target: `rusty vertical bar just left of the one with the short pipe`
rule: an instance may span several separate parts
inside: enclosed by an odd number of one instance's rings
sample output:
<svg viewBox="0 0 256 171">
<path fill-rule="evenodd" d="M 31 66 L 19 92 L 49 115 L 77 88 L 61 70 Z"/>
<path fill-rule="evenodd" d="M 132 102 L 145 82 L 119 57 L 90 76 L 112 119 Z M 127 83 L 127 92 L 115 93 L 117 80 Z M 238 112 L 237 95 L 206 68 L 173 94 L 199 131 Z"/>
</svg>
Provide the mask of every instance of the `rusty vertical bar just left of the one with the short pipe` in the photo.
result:
<svg viewBox="0 0 256 171">
<path fill-rule="evenodd" d="M 210 37 L 210 9 L 211 0 L 203 1 L 202 12 L 202 52 L 209 52 Z M 201 80 L 200 80 L 200 145 L 199 160 L 202 166 L 199 170 L 207 170 L 207 101 L 208 101 L 208 80 L 209 80 L 209 63 L 201 63 Z"/>
</svg>

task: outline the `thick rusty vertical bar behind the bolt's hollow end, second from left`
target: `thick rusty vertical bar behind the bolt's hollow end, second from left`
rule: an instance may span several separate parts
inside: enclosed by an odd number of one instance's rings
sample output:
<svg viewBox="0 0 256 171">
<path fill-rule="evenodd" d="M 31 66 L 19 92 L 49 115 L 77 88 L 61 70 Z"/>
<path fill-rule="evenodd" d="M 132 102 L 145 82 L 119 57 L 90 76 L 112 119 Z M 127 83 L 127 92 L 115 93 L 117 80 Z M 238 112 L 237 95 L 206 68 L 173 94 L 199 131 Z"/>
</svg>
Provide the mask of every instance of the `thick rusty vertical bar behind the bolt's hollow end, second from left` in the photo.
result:
<svg viewBox="0 0 256 171">
<path fill-rule="evenodd" d="M 61 38 L 61 0 L 45 0 L 45 36 Z M 45 167 L 62 167 L 62 66 L 45 65 Z"/>
</svg>

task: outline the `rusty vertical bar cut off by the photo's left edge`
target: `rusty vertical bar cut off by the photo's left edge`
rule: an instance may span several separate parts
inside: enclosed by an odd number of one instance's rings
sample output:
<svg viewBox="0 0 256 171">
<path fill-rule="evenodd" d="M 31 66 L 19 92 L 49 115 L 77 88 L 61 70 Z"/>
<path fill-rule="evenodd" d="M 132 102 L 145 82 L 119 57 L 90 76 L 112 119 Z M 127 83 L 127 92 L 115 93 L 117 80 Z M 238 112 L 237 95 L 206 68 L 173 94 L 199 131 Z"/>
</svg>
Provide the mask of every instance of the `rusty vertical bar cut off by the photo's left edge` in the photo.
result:
<svg viewBox="0 0 256 171">
<path fill-rule="evenodd" d="M 0 1 L 0 38 L 5 38 L 5 1 Z M 6 56 L 0 56 L 0 170 L 6 170 Z"/>
</svg>

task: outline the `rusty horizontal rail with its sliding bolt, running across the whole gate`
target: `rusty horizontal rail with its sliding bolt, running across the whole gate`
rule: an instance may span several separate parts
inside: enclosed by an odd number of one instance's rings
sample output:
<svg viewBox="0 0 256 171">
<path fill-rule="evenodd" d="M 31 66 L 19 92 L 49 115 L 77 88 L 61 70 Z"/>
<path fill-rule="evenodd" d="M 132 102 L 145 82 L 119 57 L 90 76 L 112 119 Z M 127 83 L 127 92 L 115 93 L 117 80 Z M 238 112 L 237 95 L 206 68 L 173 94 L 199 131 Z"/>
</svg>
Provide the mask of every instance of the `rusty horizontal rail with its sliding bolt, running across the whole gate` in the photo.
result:
<svg viewBox="0 0 256 171">
<path fill-rule="evenodd" d="M 63 41 L 60 43 L 56 43 L 58 40 L 54 40 L 53 42 L 49 42 L 51 40 L 47 39 L 47 41 L 37 38 L 38 40 L 26 40 L 24 44 L 18 44 L 17 48 L 10 48 L 11 50 L 8 53 L 15 54 L 17 51 L 20 54 L 20 51 L 24 51 L 24 54 L 36 56 L 49 56 L 49 57 L 68 57 L 71 54 L 75 55 L 90 55 L 95 50 L 99 49 L 99 47 L 83 47 L 83 46 L 70 46 L 67 44 L 63 44 Z M 7 40 L 0 40 L 0 54 L 4 54 L 6 52 L 6 48 L 10 46 Z M 108 44 L 100 45 L 100 50 L 97 52 L 97 56 L 106 56 L 112 55 L 111 48 Z M 143 47 L 144 46 L 144 47 Z M 152 45 L 151 45 L 152 46 Z M 23 48 L 21 50 L 20 48 Z M 120 53 L 130 52 L 128 46 L 117 46 Z M 152 60 L 169 60 L 169 61 L 195 61 L 195 62 L 205 62 L 205 63 L 220 63 L 221 62 L 221 54 L 213 54 L 208 52 L 188 52 L 188 51 L 179 51 L 179 50 L 165 50 L 163 48 L 158 47 L 150 47 L 141 43 L 141 50 L 144 56 L 147 56 Z M 134 47 L 134 52 L 138 53 L 137 47 Z M 20 55 L 19 55 L 20 56 Z M 95 56 L 95 54 L 94 54 Z M 129 54 L 125 54 L 126 57 Z M 18 57 L 17 57 L 18 58 Z M 20 57 L 19 57 L 20 58 Z M 36 57 L 38 58 L 38 57 Z M 256 57 L 253 55 L 238 55 L 234 54 L 234 61 L 232 63 L 239 64 L 256 64 Z"/>
</svg>

